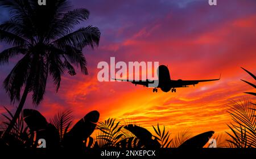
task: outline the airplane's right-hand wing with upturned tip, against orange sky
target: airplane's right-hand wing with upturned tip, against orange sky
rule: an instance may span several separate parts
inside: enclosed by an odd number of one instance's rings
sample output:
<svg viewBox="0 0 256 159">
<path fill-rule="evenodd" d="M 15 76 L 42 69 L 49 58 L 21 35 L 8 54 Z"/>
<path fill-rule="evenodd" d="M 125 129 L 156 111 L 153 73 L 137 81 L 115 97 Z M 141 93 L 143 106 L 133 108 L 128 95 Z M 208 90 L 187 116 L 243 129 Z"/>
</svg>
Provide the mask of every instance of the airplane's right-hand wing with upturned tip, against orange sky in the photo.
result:
<svg viewBox="0 0 256 159">
<path fill-rule="evenodd" d="M 220 80 L 218 79 L 207 79 L 207 80 L 171 80 L 171 84 L 173 87 L 186 87 L 187 85 L 195 85 L 199 84 L 200 82 L 205 82 L 205 81 L 214 81 L 214 80 Z"/>
</svg>

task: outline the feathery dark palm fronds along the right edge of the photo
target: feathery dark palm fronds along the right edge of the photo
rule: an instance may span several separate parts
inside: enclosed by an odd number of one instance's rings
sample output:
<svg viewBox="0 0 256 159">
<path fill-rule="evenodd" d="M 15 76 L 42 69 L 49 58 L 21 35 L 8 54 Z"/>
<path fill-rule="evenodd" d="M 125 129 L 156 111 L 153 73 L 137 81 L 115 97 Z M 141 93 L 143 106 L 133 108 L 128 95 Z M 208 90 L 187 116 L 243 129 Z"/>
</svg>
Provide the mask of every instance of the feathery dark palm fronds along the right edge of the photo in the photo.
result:
<svg viewBox="0 0 256 159">
<path fill-rule="evenodd" d="M 241 67 L 242 68 L 242 67 Z M 250 76 L 256 80 L 256 77 L 251 72 L 245 70 Z M 245 83 L 251 85 L 256 88 L 256 85 L 250 83 L 248 81 L 242 80 Z M 252 94 L 256 96 L 254 92 L 245 92 L 247 94 Z M 229 114 L 232 117 L 234 123 L 230 123 L 228 127 L 232 131 L 233 134 L 226 132 L 231 139 L 229 139 L 230 147 L 236 148 L 250 148 L 256 147 L 256 104 L 250 102 L 248 100 L 244 100 L 243 102 L 232 102 L 232 106 L 230 106 Z"/>
</svg>

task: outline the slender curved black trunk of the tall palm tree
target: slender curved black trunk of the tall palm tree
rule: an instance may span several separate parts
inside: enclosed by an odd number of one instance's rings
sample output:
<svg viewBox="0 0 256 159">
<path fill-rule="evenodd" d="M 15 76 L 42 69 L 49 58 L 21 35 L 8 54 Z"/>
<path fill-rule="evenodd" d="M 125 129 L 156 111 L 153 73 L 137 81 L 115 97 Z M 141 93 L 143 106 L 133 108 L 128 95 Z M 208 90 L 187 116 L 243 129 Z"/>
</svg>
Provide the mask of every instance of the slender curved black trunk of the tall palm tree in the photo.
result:
<svg viewBox="0 0 256 159">
<path fill-rule="evenodd" d="M 26 85 L 25 89 L 24 89 L 24 92 L 22 94 L 22 98 L 20 99 L 20 102 L 19 102 L 19 106 L 13 116 L 13 119 L 11 120 L 9 126 L 7 127 L 6 131 L 4 132 L 3 136 L 2 136 L 2 139 L 5 140 L 5 137 L 6 135 L 8 135 L 10 132 L 11 132 L 11 129 L 14 127 L 17 119 L 19 118 L 19 114 L 21 113 L 22 111 L 22 108 L 24 106 L 24 103 L 26 101 L 26 98 L 27 98 L 27 94 L 28 94 L 28 86 Z"/>
</svg>

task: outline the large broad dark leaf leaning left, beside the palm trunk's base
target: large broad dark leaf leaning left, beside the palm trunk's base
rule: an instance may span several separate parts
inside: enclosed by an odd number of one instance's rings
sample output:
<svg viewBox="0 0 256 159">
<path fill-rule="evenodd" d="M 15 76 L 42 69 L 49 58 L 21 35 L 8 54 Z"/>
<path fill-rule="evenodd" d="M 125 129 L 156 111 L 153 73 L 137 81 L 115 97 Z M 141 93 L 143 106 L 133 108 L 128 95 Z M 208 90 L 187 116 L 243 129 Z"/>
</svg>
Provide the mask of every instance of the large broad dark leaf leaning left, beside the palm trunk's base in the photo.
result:
<svg viewBox="0 0 256 159">
<path fill-rule="evenodd" d="M 36 132 L 35 143 L 38 143 L 39 139 L 46 140 L 47 148 L 59 147 L 59 133 L 55 126 L 46 121 L 46 118 L 37 110 L 24 109 L 23 110 L 24 121 L 30 128 L 31 134 Z"/>
</svg>

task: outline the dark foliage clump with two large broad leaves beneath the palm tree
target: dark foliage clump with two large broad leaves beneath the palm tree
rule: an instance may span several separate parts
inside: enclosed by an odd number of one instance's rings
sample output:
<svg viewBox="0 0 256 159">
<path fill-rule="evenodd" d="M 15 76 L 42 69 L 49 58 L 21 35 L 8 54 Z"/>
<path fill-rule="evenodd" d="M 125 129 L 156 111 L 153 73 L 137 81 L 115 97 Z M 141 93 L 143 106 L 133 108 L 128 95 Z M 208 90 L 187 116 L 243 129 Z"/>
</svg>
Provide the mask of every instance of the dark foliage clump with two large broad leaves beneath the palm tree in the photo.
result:
<svg viewBox="0 0 256 159">
<path fill-rule="evenodd" d="M 5 117 L 9 122 L 5 122 L 6 126 L 10 124 L 13 117 L 9 110 L 7 112 L 9 116 L 5 115 Z M 96 128 L 99 117 L 98 111 L 90 111 L 72 128 L 69 128 L 73 122 L 70 110 L 55 115 L 50 120 L 52 123 L 49 123 L 39 111 L 24 109 L 16 121 L 15 128 L 7 134 L 7 140 L 2 142 L 1 146 L 35 148 L 38 146 L 39 139 L 45 139 L 47 148 L 86 149 L 93 143 L 90 135 Z"/>
</svg>

